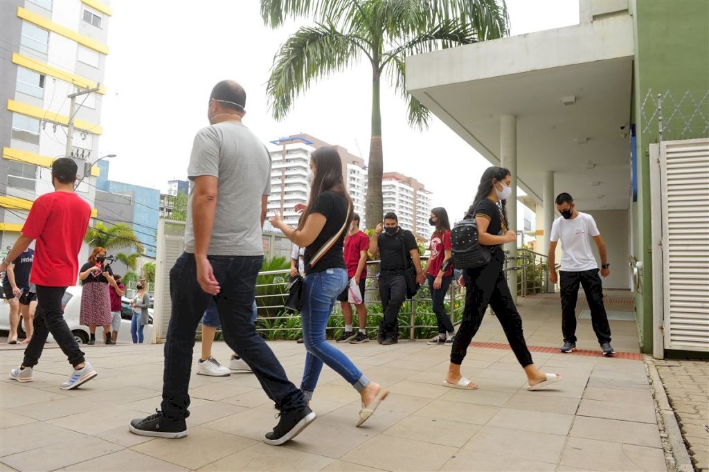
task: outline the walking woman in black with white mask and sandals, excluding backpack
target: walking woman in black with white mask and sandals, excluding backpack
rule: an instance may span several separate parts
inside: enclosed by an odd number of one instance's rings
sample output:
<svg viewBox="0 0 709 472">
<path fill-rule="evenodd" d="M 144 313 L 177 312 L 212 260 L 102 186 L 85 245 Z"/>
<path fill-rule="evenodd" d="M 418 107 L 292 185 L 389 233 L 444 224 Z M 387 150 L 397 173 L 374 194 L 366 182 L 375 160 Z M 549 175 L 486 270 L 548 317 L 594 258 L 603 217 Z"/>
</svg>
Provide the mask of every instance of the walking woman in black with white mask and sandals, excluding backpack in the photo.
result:
<svg viewBox="0 0 709 472">
<path fill-rule="evenodd" d="M 488 305 L 495 311 L 510 347 L 517 360 L 525 369 L 528 390 L 537 390 L 561 380 L 555 373 L 543 373 L 532 363 L 532 355 L 527 349 L 522 318 L 507 285 L 503 271 L 505 254 L 500 245 L 517 239 L 514 231 L 508 230 L 506 198 L 512 189 L 510 171 L 502 167 L 489 167 L 484 172 L 478 186 L 478 193 L 468 210 L 466 218 L 475 218 L 478 225 L 479 243 L 491 249 L 490 262 L 476 269 L 466 269 L 467 291 L 463 321 L 454 337 L 450 353 L 450 366 L 443 385 L 452 388 L 474 389 L 476 384 L 461 375 L 468 346 L 480 327 Z M 514 204 L 514 203 L 512 203 Z"/>
</svg>

